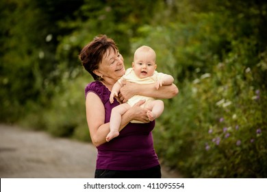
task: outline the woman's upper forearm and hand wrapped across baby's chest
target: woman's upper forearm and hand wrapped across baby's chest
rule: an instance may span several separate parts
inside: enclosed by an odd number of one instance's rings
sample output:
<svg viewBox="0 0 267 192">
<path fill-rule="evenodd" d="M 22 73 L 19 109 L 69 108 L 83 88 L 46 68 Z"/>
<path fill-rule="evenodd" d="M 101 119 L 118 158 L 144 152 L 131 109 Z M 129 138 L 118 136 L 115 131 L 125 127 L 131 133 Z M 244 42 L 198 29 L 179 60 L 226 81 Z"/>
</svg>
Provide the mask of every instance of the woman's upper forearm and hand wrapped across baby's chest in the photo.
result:
<svg viewBox="0 0 267 192">
<path fill-rule="evenodd" d="M 159 89 L 155 88 L 155 84 L 136 84 L 126 82 L 125 86 L 120 88 L 120 101 L 126 102 L 133 95 L 144 95 L 160 99 L 170 99 L 175 97 L 179 90 L 175 84 L 164 85 Z"/>
</svg>

